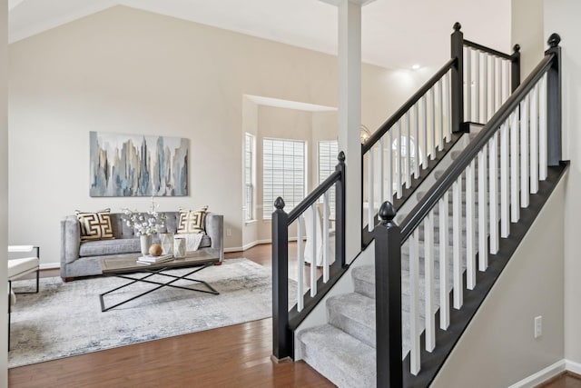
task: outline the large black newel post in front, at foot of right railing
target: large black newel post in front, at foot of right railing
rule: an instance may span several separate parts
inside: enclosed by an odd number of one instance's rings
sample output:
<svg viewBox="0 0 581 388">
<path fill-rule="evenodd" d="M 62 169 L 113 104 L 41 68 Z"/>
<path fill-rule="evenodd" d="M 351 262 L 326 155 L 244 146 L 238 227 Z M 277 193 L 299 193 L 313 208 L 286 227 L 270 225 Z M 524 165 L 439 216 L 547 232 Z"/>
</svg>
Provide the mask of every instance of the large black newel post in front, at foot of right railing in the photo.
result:
<svg viewBox="0 0 581 388">
<path fill-rule="evenodd" d="M 377 386 L 403 386 L 401 361 L 401 229 L 389 202 L 379 208 L 375 227 Z"/>
</svg>

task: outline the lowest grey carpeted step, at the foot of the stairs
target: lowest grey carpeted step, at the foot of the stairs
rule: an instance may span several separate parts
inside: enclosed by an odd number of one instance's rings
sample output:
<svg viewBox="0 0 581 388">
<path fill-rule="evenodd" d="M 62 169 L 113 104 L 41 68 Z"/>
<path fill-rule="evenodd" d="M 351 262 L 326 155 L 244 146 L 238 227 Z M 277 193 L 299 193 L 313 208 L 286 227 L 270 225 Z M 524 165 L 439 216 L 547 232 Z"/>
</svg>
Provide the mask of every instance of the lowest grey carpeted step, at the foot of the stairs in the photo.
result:
<svg viewBox="0 0 581 388">
<path fill-rule="evenodd" d="M 298 334 L 303 360 L 341 387 L 375 387 L 375 348 L 331 324 Z"/>
</svg>

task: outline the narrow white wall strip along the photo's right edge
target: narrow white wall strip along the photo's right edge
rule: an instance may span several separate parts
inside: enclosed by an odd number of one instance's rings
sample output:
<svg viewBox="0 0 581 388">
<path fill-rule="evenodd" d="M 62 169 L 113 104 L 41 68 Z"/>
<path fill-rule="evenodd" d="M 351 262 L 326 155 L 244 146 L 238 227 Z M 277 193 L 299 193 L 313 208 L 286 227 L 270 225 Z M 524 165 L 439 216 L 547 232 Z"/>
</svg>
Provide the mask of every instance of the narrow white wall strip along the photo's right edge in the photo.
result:
<svg viewBox="0 0 581 388">
<path fill-rule="evenodd" d="M 545 36 L 561 35 L 563 50 L 563 153 L 571 161 L 565 193 L 565 356 L 581 363 L 581 2 L 576 0 L 545 1 Z"/>
</svg>

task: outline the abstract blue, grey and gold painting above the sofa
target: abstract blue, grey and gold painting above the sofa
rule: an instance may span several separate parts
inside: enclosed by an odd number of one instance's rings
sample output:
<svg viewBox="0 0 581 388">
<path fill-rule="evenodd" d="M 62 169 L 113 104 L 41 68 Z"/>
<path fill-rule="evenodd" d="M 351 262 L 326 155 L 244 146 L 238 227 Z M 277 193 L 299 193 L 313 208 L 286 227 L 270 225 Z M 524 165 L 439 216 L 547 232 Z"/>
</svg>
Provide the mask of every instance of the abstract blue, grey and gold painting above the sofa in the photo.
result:
<svg viewBox="0 0 581 388">
<path fill-rule="evenodd" d="M 91 132 L 91 196 L 188 194 L 188 139 Z"/>
</svg>

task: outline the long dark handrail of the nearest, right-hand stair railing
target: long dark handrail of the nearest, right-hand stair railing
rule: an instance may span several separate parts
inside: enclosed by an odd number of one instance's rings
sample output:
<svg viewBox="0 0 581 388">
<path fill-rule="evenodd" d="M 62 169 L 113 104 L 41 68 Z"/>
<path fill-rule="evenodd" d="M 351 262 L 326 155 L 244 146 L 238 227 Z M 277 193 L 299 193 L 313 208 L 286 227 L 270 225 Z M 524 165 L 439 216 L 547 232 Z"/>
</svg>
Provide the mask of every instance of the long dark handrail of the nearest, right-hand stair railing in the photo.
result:
<svg viewBox="0 0 581 388">
<path fill-rule="evenodd" d="M 428 215 L 429 211 L 438 204 L 439 199 L 449 190 L 460 174 L 466 170 L 468 164 L 477 157 L 478 152 L 488 143 L 488 140 L 497 132 L 500 124 L 507 120 L 508 116 L 513 113 L 518 104 L 533 89 L 538 80 L 541 79 L 549 70 L 556 55 L 548 53 L 535 67 L 533 72 L 527 76 L 527 79 L 517 87 L 517 90 L 507 99 L 497 113 L 492 116 L 486 125 L 480 130 L 477 137 L 462 151 L 458 159 L 451 164 L 446 172 L 438 179 L 421 202 L 409 212 L 409 215 L 401 222 L 401 243 L 403 244 L 412 232 L 419 227 L 419 224 Z"/>
</svg>

